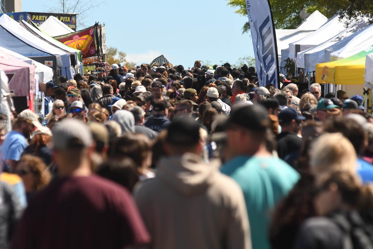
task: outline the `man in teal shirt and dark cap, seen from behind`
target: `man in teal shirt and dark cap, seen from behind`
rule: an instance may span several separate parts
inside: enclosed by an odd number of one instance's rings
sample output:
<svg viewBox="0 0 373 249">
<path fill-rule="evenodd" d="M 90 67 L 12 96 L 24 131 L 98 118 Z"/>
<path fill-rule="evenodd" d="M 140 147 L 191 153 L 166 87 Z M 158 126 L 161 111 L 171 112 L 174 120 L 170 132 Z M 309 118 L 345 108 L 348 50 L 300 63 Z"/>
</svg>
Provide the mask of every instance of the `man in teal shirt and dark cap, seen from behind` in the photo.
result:
<svg viewBox="0 0 373 249">
<path fill-rule="evenodd" d="M 233 106 L 226 128 L 231 160 L 221 169 L 244 192 L 253 248 L 260 249 L 270 248 L 267 237 L 270 210 L 299 179 L 295 169 L 273 157 L 266 148 L 270 126 L 267 113 L 260 105 Z"/>
</svg>

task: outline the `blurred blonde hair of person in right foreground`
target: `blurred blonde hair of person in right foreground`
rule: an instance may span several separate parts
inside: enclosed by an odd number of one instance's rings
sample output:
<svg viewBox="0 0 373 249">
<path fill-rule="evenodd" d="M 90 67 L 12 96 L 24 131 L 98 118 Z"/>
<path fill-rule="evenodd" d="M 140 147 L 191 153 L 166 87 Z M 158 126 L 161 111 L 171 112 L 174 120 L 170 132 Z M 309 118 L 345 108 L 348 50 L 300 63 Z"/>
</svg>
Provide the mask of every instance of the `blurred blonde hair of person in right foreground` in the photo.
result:
<svg viewBox="0 0 373 249">
<path fill-rule="evenodd" d="M 310 168 L 317 176 L 335 171 L 356 174 L 357 155 L 351 142 L 341 133 L 326 133 L 311 145 Z"/>
</svg>

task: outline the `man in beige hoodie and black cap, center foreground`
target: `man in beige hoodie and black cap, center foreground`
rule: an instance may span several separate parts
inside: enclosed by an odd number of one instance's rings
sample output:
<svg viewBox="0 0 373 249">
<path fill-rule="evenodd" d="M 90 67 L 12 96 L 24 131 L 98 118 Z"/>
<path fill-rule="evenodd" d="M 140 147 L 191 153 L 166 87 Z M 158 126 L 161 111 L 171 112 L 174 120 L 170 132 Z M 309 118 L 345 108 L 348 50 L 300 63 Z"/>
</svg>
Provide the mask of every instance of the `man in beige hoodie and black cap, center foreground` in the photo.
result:
<svg viewBox="0 0 373 249">
<path fill-rule="evenodd" d="M 167 128 L 155 178 L 135 193 L 151 248 L 251 248 L 244 197 L 237 184 L 200 156 L 200 126 L 176 118 Z M 150 208 L 151 207 L 151 208 Z"/>
</svg>

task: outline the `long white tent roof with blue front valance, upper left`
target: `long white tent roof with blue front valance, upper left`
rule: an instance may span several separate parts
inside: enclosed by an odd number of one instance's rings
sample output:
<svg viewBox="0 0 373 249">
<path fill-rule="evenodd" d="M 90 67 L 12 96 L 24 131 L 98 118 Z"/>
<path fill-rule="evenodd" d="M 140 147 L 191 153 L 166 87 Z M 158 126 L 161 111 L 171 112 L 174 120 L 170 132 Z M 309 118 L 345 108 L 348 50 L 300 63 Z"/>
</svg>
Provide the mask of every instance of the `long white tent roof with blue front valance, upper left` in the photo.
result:
<svg viewBox="0 0 373 249">
<path fill-rule="evenodd" d="M 6 29 L 19 40 L 22 40 L 24 43 L 27 43 L 40 51 L 45 51 L 47 53 L 55 55 L 57 61 L 57 69 L 62 70 L 62 75 L 65 75 L 67 78 L 72 78 L 73 72 L 71 72 L 72 67 L 69 54 L 31 34 L 8 15 L 0 16 L 0 26 Z"/>
</svg>

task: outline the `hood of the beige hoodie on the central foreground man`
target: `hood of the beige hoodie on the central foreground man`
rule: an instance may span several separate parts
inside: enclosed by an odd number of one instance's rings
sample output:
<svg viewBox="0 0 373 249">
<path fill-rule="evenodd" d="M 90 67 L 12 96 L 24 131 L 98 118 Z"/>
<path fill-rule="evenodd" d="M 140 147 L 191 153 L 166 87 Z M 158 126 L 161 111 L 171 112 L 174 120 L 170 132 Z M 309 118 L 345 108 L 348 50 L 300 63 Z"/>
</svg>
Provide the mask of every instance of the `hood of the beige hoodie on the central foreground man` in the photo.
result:
<svg viewBox="0 0 373 249">
<path fill-rule="evenodd" d="M 197 195 L 207 189 L 219 172 L 219 160 L 209 164 L 193 153 L 163 157 L 157 165 L 157 177 L 184 196 Z"/>
</svg>

